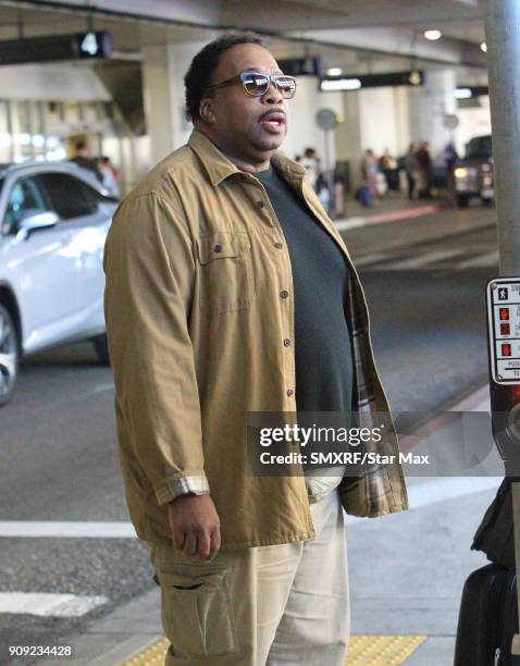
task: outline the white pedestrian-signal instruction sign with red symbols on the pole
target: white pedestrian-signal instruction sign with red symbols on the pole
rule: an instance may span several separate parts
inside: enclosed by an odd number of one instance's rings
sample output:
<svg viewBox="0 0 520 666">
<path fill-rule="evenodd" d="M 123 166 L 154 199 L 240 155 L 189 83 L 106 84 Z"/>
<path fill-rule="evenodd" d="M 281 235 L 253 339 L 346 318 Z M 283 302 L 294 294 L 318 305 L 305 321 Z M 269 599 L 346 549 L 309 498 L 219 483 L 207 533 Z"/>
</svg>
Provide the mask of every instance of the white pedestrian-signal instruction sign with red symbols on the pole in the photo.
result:
<svg viewBox="0 0 520 666">
<path fill-rule="evenodd" d="M 520 384 L 520 279 L 487 283 L 491 374 L 497 384 Z"/>
</svg>

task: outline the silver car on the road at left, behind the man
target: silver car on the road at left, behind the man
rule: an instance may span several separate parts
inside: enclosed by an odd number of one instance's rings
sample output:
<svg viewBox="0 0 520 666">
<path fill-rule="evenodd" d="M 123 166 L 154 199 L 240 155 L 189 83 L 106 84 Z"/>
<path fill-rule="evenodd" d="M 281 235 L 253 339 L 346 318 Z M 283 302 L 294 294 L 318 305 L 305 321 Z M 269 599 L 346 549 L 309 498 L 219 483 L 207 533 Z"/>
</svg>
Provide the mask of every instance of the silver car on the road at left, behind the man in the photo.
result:
<svg viewBox="0 0 520 666">
<path fill-rule="evenodd" d="M 0 406 L 22 357 L 90 340 L 109 362 L 102 254 L 116 206 L 72 162 L 0 165 Z"/>
</svg>

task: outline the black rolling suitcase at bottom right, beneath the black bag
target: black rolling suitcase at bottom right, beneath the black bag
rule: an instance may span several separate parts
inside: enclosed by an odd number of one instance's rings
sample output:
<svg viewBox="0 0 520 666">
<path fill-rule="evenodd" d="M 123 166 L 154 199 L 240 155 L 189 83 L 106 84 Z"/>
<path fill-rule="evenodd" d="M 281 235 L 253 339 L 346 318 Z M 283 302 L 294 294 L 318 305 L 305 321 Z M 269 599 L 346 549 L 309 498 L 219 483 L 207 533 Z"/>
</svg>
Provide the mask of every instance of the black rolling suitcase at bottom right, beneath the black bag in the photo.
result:
<svg viewBox="0 0 520 666">
<path fill-rule="evenodd" d="M 455 666 L 519 666 L 511 656 L 517 631 L 515 569 L 490 564 L 473 571 L 462 591 Z"/>
</svg>

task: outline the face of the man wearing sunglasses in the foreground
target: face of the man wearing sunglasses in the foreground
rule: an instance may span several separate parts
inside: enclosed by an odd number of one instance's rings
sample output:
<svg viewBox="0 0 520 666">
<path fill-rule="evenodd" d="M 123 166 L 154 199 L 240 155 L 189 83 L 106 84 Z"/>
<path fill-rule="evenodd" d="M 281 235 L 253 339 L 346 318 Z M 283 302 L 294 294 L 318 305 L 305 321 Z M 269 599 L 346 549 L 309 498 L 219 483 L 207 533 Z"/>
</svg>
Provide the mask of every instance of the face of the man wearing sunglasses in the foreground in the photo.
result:
<svg viewBox="0 0 520 666">
<path fill-rule="evenodd" d="M 281 74 L 271 53 L 256 44 L 232 47 L 221 58 L 213 85 L 240 72 Z M 206 106 L 206 109 L 205 109 Z M 265 159 L 282 145 L 287 133 L 287 100 L 271 84 L 261 97 L 246 92 L 242 82 L 214 90 L 202 101 L 206 127 L 226 152 L 252 161 Z"/>
</svg>

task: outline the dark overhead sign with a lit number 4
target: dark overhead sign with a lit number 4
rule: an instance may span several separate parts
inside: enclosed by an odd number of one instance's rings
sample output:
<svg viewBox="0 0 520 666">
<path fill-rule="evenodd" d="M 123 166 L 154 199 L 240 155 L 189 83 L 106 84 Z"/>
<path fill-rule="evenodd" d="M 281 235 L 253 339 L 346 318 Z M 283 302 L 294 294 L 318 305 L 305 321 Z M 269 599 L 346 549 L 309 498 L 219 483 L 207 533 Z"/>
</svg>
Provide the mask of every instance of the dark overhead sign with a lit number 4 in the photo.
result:
<svg viewBox="0 0 520 666">
<path fill-rule="evenodd" d="M 0 40 L 0 65 L 110 58 L 111 54 L 112 35 L 107 30 Z"/>
</svg>

